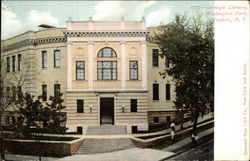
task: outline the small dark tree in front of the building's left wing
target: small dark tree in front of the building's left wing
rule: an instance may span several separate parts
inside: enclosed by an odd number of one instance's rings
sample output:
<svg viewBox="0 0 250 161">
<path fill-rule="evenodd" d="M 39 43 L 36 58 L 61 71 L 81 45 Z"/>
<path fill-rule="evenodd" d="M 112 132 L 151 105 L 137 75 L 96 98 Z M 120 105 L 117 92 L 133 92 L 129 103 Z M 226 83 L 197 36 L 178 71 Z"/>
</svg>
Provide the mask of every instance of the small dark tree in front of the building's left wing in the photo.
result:
<svg viewBox="0 0 250 161">
<path fill-rule="evenodd" d="M 17 134 L 35 136 L 40 149 L 40 136 L 44 133 L 64 134 L 66 131 L 66 114 L 62 112 L 65 106 L 62 105 L 63 94 L 50 96 L 49 102 L 42 102 L 42 96 L 35 98 L 26 93 L 20 96 L 18 121 L 14 124 L 14 131 Z M 41 160 L 41 154 L 39 154 Z"/>
</svg>

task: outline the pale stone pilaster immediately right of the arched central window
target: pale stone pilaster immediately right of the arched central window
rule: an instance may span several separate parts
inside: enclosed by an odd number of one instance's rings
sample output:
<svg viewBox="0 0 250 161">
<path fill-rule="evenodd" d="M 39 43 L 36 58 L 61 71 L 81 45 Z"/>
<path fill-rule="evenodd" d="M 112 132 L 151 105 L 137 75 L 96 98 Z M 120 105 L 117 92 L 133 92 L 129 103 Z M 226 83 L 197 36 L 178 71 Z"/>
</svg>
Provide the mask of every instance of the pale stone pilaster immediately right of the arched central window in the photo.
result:
<svg viewBox="0 0 250 161">
<path fill-rule="evenodd" d="M 121 89 L 126 88 L 126 42 L 120 42 L 121 46 Z"/>
</svg>

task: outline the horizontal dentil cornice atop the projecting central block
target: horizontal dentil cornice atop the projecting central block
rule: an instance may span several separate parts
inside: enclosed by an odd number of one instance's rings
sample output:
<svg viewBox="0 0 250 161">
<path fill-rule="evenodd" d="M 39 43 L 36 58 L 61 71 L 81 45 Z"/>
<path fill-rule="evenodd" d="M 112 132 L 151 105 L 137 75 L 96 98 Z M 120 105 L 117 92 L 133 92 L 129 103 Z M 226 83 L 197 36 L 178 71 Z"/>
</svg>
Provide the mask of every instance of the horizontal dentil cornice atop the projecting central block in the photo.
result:
<svg viewBox="0 0 250 161">
<path fill-rule="evenodd" d="M 145 37 L 147 31 L 65 31 L 67 37 Z"/>
</svg>

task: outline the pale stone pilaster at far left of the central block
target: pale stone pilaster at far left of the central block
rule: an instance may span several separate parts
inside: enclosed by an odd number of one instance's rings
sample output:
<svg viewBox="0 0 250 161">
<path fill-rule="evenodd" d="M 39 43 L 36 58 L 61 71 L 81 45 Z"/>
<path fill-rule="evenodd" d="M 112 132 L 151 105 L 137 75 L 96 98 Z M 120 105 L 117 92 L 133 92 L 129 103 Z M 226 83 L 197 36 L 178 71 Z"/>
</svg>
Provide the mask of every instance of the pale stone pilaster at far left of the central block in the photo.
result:
<svg viewBox="0 0 250 161">
<path fill-rule="evenodd" d="M 72 89 L 72 42 L 67 42 L 67 90 Z"/>
</svg>

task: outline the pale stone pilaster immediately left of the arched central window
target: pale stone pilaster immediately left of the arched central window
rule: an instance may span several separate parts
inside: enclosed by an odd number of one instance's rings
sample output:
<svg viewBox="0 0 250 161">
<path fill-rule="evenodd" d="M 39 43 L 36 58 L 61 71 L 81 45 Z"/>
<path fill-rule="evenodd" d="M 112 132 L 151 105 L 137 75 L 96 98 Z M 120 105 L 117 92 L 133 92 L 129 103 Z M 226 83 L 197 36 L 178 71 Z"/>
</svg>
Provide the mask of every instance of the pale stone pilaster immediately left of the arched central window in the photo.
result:
<svg viewBox="0 0 250 161">
<path fill-rule="evenodd" d="M 88 42 L 88 82 L 89 82 L 89 89 L 93 89 L 93 61 L 94 61 L 94 42 Z"/>
</svg>

